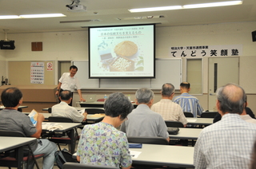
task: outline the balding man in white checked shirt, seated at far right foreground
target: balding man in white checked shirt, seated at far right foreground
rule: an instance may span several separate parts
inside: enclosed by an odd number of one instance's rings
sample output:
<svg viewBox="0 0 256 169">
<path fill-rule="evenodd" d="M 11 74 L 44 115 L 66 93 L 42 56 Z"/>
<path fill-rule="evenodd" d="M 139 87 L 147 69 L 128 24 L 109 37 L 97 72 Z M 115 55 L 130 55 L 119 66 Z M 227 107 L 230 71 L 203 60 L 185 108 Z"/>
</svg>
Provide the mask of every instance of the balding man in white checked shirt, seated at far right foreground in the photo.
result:
<svg viewBox="0 0 256 169">
<path fill-rule="evenodd" d="M 197 169 L 248 168 L 256 125 L 240 117 L 246 106 L 246 94 L 234 84 L 218 88 L 216 94 L 222 120 L 202 129 L 194 147 L 194 166 Z"/>
</svg>

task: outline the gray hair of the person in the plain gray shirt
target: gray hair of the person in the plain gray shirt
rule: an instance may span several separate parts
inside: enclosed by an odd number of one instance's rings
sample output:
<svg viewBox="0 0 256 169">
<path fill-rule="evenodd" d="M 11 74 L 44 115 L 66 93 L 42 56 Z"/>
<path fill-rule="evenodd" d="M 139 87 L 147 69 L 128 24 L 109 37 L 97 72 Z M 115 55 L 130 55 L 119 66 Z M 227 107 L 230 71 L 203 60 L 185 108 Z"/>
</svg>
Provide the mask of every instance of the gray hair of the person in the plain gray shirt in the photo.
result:
<svg viewBox="0 0 256 169">
<path fill-rule="evenodd" d="M 135 93 L 135 97 L 138 104 L 148 104 L 154 98 L 154 92 L 149 88 L 139 88 Z"/>
</svg>

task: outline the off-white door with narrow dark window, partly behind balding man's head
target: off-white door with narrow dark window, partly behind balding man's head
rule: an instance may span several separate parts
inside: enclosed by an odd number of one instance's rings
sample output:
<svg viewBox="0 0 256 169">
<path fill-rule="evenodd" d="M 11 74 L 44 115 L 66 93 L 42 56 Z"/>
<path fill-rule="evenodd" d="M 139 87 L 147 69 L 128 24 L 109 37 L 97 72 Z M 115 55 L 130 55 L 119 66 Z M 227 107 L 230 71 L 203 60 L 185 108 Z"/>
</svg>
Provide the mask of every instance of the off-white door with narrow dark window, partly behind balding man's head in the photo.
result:
<svg viewBox="0 0 256 169">
<path fill-rule="evenodd" d="M 227 83 L 238 84 L 239 57 L 209 58 L 208 108 L 216 110 L 216 90 Z"/>
</svg>

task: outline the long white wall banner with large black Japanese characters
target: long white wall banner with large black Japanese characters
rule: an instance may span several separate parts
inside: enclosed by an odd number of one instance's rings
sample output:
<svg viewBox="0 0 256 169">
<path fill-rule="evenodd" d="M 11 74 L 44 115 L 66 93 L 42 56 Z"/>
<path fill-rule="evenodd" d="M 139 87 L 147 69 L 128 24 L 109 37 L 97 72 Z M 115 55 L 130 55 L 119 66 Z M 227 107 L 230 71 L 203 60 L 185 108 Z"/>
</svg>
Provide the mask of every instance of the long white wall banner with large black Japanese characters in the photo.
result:
<svg viewBox="0 0 256 169">
<path fill-rule="evenodd" d="M 170 47 L 170 57 L 242 56 L 242 45 L 191 45 Z"/>
</svg>

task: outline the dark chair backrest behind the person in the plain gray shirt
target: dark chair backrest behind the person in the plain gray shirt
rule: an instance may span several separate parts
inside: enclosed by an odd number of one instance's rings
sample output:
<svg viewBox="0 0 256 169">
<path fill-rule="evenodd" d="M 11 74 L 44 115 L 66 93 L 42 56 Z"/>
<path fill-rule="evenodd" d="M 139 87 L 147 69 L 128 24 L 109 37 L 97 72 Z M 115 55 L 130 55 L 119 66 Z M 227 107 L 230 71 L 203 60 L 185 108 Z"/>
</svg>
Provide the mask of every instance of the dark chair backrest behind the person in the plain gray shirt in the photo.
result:
<svg viewBox="0 0 256 169">
<path fill-rule="evenodd" d="M 127 137 L 127 139 L 129 143 L 169 144 L 163 137 Z"/>
</svg>

